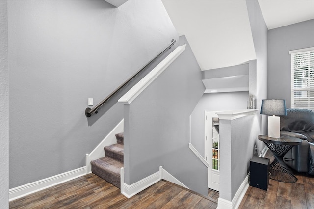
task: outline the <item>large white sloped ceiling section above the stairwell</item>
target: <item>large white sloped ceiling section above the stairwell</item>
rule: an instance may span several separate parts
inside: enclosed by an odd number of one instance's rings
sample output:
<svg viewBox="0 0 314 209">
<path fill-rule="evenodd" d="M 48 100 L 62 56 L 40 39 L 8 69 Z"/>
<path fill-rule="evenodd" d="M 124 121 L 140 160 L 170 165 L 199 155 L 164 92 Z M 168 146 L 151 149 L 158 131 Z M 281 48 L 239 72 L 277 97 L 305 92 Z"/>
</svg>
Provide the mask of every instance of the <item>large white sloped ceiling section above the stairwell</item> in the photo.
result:
<svg viewBox="0 0 314 209">
<path fill-rule="evenodd" d="M 244 0 L 162 1 L 179 34 L 184 34 L 202 70 L 255 59 Z"/>
</svg>

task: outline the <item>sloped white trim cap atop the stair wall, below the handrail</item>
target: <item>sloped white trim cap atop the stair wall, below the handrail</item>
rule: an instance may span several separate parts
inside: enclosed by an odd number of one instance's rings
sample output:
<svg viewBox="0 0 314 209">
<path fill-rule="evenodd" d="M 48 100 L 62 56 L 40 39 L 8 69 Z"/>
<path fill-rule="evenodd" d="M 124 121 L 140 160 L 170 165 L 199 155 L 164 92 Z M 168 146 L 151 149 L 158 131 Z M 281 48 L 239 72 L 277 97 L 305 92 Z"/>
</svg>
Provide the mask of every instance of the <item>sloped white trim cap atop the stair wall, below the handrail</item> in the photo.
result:
<svg viewBox="0 0 314 209">
<path fill-rule="evenodd" d="M 164 60 L 162 60 L 151 72 L 136 83 L 118 102 L 130 104 L 142 91 L 145 90 L 182 52 L 184 52 L 186 44 L 177 47 Z"/>
</svg>

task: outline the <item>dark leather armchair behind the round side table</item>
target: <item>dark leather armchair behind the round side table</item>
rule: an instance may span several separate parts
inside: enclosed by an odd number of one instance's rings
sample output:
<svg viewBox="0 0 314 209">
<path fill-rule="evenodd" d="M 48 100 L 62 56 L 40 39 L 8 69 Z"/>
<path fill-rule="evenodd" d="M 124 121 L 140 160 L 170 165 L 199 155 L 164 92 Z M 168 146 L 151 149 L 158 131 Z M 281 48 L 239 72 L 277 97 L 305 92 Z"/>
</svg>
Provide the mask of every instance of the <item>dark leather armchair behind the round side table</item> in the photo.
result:
<svg viewBox="0 0 314 209">
<path fill-rule="evenodd" d="M 303 139 L 285 156 L 285 163 L 298 172 L 314 175 L 314 112 L 308 109 L 287 109 L 280 116 L 280 134 Z"/>
</svg>

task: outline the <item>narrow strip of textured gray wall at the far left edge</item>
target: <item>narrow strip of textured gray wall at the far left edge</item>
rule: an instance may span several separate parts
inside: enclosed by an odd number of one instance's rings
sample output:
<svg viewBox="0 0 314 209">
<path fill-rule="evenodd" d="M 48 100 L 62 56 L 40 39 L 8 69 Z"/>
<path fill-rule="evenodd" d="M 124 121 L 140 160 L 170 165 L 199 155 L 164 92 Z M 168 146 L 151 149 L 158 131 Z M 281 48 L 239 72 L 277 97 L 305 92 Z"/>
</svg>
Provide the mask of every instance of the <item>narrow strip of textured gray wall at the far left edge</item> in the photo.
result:
<svg viewBox="0 0 314 209">
<path fill-rule="evenodd" d="M 0 1 L 0 208 L 9 208 L 9 71 L 7 1 Z"/>
</svg>

